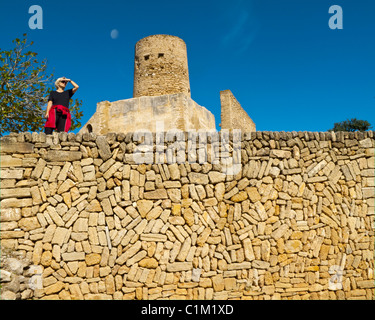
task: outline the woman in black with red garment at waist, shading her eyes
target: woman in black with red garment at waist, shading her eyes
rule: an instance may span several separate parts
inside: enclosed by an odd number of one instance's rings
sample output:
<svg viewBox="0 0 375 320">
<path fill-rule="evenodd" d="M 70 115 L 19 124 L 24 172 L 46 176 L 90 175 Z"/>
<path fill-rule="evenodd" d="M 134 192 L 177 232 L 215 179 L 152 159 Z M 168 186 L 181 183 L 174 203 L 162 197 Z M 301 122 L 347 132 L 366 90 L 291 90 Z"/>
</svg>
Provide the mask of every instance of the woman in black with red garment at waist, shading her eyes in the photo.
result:
<svg viewBox="0 0 375 320">
<path fill-rule="evenodd" d="M 73 85 L 73 89 L 65 91 L 67 83 Z M 53 130 L 57 132 L 68 132 L 71 126 L 72 117 L 69 111 L 69 100 L 78 90 L 79 86 L 72 80 L 65 77 L 58 78 L 55 82 L 56 91 L 51 91 L 48 97 L 48 105 L 46 111 L 47 122 L 44 132 L 52 134 Z"/>
</svg>

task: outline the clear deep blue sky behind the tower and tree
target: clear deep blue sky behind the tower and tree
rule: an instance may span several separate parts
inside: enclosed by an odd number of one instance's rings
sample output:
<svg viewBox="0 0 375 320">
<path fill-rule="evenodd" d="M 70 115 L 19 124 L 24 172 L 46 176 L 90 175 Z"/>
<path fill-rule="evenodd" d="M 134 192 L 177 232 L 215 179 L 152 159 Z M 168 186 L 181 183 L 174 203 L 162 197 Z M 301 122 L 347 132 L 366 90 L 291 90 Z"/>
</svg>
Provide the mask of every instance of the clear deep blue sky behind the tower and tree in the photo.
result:
<svg viewBox="0 0 375 320">
<path fill-rule="evenodd" d="M 29 28 L 31 5 L 42 30 Z M 342 30 L 328 26 L 332 5 Z M 171 34 L 187 44 L 192 98 L 218 129 L 226 89 L 259 131 L 326 131 L 354 117 L 375 128 L 374 16 L 373 0 L 3 0 L 0 48 L 27 33 L 56 78 L 79 84 L 83 124 L 97 102 L 132 98 L 136 42 Z"/>
</svg>

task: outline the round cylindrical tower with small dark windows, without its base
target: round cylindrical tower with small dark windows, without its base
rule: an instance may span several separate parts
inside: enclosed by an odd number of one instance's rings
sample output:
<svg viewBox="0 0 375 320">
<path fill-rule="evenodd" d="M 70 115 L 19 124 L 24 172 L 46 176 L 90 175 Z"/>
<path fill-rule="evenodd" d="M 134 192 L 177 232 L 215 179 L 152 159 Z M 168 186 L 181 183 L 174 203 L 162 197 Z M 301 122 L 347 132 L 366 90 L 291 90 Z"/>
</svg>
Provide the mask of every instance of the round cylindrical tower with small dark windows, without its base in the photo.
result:
<svg viewBox="0 0 375 320">
<path fill-rule="evenodd" d="M 185 42 L 170 35 L 152 35 L 135 46 L 133 97 L 190 95 Z"/>
</svg>

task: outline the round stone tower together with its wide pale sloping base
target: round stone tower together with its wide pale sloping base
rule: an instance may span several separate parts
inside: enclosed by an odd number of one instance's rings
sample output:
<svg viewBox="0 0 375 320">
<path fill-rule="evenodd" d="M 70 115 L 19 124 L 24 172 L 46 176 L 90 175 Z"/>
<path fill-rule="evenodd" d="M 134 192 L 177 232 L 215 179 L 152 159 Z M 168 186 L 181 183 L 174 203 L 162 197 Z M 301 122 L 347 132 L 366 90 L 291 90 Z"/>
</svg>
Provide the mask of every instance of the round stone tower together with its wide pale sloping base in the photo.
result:
<svg viewBox="0 0 375 320">
<path fill-rule="evenodd" d="M 81 133 L 216 129 L 214 115 L 191 99 L 182 39 L 162 34 L 143 38 L 135 46 L 134 62 L 133 98 L 99 102 Z"/>
</svg>

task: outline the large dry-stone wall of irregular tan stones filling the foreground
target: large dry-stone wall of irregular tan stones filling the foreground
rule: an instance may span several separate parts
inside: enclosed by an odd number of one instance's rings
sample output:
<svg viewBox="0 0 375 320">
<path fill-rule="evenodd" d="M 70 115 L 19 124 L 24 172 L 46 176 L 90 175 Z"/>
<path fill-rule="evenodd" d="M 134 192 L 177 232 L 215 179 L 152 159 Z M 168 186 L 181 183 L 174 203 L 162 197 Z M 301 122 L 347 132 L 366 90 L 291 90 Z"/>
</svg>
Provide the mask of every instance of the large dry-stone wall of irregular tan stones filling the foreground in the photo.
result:
<svg viewBox="0 0 375 320">
<path fill-rule="evenodd" d="M 374 299 L 372 131 L 246 132 L 234 176 L 132 133 L 0 142 L 1 299 Z"/>
</svg>

